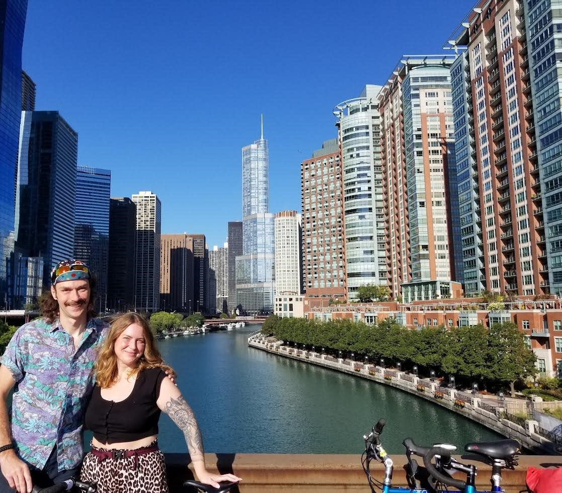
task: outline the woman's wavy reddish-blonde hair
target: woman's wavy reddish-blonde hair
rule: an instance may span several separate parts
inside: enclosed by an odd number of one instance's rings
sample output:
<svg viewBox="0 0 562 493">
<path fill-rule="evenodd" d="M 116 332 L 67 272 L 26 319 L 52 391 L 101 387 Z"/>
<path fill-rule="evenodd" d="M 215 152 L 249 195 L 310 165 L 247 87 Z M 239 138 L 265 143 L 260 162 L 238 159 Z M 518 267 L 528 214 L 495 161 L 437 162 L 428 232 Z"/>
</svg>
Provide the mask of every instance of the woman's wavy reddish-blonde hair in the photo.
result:
<svg viewBox="0 0 562 493">
<path fill-rule="evenodd" d="M 117 317 L 111 322 L 107 338 L 99 350 L 96 362 L 96 382 L 101 388 L 108 388 L 117 381 L 117 356 L 115 355 L 115 341 L 129 325 L 138 324 L 143 328 L 144 354 L 137 360 L 137 367 L 129 372 L 129 377 L 137 377 L 142 370 L 147 368 L 161 368 L 174 377 L 176 373 L 164 363 L 160 351 L 156 347 L 150 323 L 146 318 L 137 313 L 129 312 Z"/>
</svg>

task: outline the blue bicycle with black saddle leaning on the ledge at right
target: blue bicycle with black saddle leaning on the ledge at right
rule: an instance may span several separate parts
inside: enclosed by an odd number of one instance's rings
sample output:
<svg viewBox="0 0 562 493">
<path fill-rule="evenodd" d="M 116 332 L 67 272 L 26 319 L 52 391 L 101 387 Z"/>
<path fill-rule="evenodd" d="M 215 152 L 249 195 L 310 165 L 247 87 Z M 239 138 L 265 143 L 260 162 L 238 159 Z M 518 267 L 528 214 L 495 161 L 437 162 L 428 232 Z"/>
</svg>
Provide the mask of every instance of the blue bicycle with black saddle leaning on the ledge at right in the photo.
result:
<svg viewBox="0 0 562 493">
<path fill-rule="evenodd" d="M 448 486 L 457 488 L 456 493 L 501 493 L 501 471 L 503 468 L 513 468 L 517 462 L 515 454 L 519 452 L 520 445 L 516 440 L 498 440 L 496 442 L 473 442 L 465 446 L 465 450 L 474 453 L 488 462 L 492 463 L 492 490 L 491 492 L 478 491 L 474 485 L 477 468 L 473 464 L 462 464 L 456 459 L 451 458 L 451 449 L 456 447 L 442 444 L 441 446 L 420 447 L 414 444 L 411 438 L 404 441 L 406 446 L 406 455 L 409 459 L 409 471 L 407 473 L 408 484 L 411 487 L 393 487 L 392 486 L 392 459 L 384 450 L 380 442 L 380 434 L 383 431 L 385 419 L 380 419 L 374 426 L 369 435 L 364 435 L 365 451 L 361 456 L 361 464 L 365 472 L 370 489 L 375 493 L 375 487 L 382 493 L 429 493 L 429 490 L 418 488 L 415 485 L 415 472 L 418 469 L 418 463 L 411 458 L 411 453 L 423 456 L 424 466 L 429 473 L 429 477 L 433 478 L 433 491 L 438 493 L 449 491 Z M 437 457 L 436 464 L 432 463 L 432 459 Z M 370 474 L 369 465 L 371 460 L 377 460 L 384 464 L 384 480 L 378 481 Z M 466 473 L 466 481 L 456 480 L 446 475 L 448 470 L 454 469 Z M 444 488 L 444 489 L 443 489 Z"/>
</svg>

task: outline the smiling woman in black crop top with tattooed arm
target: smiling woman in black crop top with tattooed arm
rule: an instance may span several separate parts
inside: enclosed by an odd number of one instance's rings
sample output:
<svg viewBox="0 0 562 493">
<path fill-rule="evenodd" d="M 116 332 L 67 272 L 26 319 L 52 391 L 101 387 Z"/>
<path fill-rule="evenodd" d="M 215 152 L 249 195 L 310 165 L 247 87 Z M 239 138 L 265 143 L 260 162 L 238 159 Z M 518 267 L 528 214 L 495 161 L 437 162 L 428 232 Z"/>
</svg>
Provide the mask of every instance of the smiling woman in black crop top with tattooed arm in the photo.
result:
<svg viewBox="0 0 562 493">
<path fill-rule="evenodd" d="M 158 418 L 164 411 L 185 435 L 199 481 L 218 487 L 234 474 L 205 469 L 201 432 L 193 410 L 165 371 L 146 319 L 127 313 L 115 319 L 96 363 L 96 387 L 85 426 L 94 432 L 81 479 L 99 493 L 167 493 L 164 454 L 158 449 Z"/>
</svg>

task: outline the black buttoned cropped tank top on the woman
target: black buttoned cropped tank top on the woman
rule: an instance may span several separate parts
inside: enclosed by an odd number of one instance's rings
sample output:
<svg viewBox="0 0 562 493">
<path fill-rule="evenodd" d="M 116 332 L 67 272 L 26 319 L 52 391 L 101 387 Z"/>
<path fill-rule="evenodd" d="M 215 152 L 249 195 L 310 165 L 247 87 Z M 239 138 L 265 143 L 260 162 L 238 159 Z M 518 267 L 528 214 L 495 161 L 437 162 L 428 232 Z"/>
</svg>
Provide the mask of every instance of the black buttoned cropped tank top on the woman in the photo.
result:
<svg viewBox="0 0 562 493">
<path fill-rule="evenodd" d="M 132 442 L 158 434 L 160 408 L 156 400 L 166 374 L 160 368 L 148 368 L 137 377 L 133 391 L 124 401 L 107 401 L 96 385 L 85 415 L 85 427 L 102 444 Z"/>
</svg>

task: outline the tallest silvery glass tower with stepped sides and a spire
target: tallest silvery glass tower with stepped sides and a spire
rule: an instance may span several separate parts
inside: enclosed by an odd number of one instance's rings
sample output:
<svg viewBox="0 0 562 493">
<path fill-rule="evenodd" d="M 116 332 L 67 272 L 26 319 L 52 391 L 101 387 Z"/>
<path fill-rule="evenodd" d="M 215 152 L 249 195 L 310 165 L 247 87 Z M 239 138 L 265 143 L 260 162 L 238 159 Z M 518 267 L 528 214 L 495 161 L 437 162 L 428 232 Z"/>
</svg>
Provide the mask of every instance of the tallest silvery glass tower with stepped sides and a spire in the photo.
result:
<svg viewBox="0 0 562 493">
<path fill-rule="evenodd" d="M 236 305 L 248 315 L 273 312 L 274 214 L 269 210 L 268 141 L 242 148 L 242 255 L 236 257 Z"/>
</svg>

